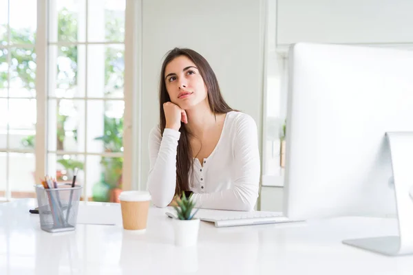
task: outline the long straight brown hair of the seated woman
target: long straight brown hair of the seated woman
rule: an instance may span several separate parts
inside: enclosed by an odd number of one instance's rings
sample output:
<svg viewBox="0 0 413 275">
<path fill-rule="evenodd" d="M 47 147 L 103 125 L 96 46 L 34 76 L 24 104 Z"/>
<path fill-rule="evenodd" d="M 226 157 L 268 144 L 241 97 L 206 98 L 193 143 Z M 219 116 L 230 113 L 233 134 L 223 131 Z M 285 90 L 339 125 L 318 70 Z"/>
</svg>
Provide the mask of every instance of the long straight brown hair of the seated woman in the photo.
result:
<svg viewBox="0 0 413 275">
<path fill-rule="evenodd" d="M 165 68 L 178 56 L 187 56 L 198 68 L 205 85 L 207 86 L 207 95 L 209 100 L 209 107 L 214 115 L 220 113 L 228 113 L 233 111 L 228 104 L 226 104 L 224 98 L 222 98 L 220 86 L 218 80 L 213 72 L 208 61 L 195 52 L 187 48 L 174 48 L 167 53 L 165 60 L 162 63 L 162 69 L 160 71 L 160 83 L 159 83 L 159 117 L 160 117 L 160 133 L 165 130 L 167 123 L 165 118 L 165 112 L 163 104 L 171 101 L 165 84 Z M 185 127 L 185 124 L 181 122 L 180 126 L 180 139 L 178 140 L 178 153 L 176 155 L 176 188 L 175 194 L 181 195 L 182 191 L 189 190 L 189 172 L 192 171 L 193 158 L 191 144 L 189 143 L 189 137 L 191 133 Z"/>
</svg>

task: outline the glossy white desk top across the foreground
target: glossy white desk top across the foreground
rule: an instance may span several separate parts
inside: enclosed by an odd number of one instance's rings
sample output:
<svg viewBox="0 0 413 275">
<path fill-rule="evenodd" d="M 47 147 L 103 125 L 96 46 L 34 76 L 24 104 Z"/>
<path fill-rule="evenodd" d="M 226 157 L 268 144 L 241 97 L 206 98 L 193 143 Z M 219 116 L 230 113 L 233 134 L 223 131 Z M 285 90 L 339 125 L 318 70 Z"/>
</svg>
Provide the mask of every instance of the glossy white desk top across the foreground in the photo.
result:
<svg viewBox="0 0 413 275">
<path fill-rule="evenodd" d="M 147 232 L 121 225 L 40 230 L 33 199 L 0 204 L 0 274 L 413 274 L 413 256 L 392 258 L 341 244 L 395 234 L 394 220 L 339 218 L 304 225 L 215 228 L 201 222 L 198 245 L 177 248 L 165 209 L 151 208 Z M 120 210 L 119 210 L 120 214 Z"/>
</svg>

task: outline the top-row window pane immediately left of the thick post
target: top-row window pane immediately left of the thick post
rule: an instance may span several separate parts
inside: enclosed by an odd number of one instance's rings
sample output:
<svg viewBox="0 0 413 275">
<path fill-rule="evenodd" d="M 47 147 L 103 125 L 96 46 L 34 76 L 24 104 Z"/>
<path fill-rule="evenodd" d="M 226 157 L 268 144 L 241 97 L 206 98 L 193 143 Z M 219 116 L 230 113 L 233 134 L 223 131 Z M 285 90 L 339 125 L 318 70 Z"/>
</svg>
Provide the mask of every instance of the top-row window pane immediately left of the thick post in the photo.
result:
<svg viewBox="0 0 413 275">
<path fill-rule="evenodd" d="M 37 1 L 10 1 L 10 39 L 14 44 L 34 44 Z"/>
</svg>

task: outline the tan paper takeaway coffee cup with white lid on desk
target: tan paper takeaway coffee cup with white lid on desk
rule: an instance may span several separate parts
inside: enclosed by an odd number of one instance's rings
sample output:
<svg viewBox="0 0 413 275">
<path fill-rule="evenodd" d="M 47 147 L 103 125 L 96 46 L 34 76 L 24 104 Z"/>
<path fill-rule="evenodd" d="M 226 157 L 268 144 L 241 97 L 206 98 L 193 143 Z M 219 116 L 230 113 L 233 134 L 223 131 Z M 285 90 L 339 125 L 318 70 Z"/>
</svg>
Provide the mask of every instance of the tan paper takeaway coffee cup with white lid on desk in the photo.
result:
<svg viewBox="0 0 413 275">
<path fill-rule="evenodd" d="M 123 228 L 145 232 L 151 195 L 145 191 L 123 191 L 119 195 Z"/>
</svg>

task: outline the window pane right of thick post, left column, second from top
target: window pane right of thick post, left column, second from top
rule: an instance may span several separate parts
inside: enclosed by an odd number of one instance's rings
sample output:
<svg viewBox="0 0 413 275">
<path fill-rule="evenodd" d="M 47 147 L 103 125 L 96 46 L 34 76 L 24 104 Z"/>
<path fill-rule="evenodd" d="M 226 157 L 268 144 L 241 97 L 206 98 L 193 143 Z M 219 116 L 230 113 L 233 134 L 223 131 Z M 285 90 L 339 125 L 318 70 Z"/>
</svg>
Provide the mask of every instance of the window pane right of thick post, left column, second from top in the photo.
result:
<svg viewBox="0 0 413 275">
<path fill-rule="evenodd" d="M 85 97 L 85 46 L 50 46 L 50 96 Z"/>
</svg>

